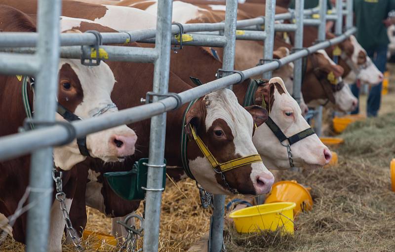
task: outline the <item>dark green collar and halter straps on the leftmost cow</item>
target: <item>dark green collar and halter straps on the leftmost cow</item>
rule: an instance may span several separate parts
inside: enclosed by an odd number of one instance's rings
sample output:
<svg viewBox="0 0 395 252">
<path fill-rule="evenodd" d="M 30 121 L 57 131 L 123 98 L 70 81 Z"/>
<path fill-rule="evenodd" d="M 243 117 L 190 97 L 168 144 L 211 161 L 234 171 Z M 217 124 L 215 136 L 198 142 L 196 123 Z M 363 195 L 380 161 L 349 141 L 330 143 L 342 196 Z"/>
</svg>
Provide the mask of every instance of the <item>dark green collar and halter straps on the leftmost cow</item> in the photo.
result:
<svg viewBox="0 0 395 252">
<path fill-rule="evenodd" d="M 18 76 L 17 76 L 18 77 Z M 27 118 L 32 119 L 33 118 L 33 112 L 30 106 L 30 101 L 29 101 L 29 93 L 28 93 L 28 82 L 30 84 L 31 90 L 33 92 L 34 96 L 34 84 L 35 80 L 33 77 L 29 76 L 23 76 L 23 81 L 22 81 L 22 102 L 23 102 L 23 108 L 25 109 L 25 113 Z M 33 98 L 34 100 L 34 98 Z M 82 120 L 81 117 L 77 116 L 67 108 L 63 107 L 60 103 L 57 103 L 57 109 L 56 112 L 60 114 L 65 120 L 67 121 L 78 121 Z M 30 128 L 34 129 L 34 123 L 29 123 Z M 83 138 L 77 138 L 77 145 L 79 148 L 79 152 L 83 156 L 90 156 L 88 148 L 86 147 L 86 137 Z"/>
</svg>

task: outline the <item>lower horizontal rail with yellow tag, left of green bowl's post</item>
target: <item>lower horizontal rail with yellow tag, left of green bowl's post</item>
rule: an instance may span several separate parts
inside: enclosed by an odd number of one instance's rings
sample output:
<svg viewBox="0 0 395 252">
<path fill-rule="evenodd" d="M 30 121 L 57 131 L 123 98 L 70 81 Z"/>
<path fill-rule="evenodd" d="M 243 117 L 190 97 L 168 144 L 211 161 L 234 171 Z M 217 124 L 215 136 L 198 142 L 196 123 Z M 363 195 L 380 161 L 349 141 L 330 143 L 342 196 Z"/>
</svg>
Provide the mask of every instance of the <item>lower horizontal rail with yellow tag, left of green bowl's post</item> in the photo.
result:
<svg viewBox="0 0 395 252">
<path fill-rule="evenodd" d="M 14 52 L 14 53 L 35 53 L 36 47 L 19 47 L 9 48 L 0 47 L 0 51 Z M 132 47 L 132 46 L 113 46 L 103 45 L 99 49 L 100 58 L 102 60 L 110 61 L 127 61 L 139 63 L 152 63 L 158 57 L 158 52 L 154 48 Z M 96 59 L 95 55 L 91 54 L 91 48 L 84 48 L 86 59 Z M 11 54 L 17 55 L 17 54 Z M 14 56 L 13 56 L 14 57 Z M 81 46 L 63 46 L 60 48 L 60 57 L 65 59 L 80 59 L 82 57 Z"/>
</svg>

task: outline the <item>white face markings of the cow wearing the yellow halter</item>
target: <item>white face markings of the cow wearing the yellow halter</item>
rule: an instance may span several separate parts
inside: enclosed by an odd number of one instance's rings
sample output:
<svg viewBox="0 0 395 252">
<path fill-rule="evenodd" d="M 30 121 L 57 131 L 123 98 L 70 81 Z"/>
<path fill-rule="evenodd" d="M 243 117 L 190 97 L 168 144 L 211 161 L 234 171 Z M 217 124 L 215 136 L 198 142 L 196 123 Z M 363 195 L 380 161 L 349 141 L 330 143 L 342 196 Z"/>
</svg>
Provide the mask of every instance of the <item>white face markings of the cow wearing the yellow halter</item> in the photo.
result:
<svg viewBox="0 0 395 252">
<path fill-rule="evenodd" d="M 254 127 L 253 119 L 251 114 L 238 104 L 235 94 L 229 89 L 222 89 L 206 95 L 204 99 L 209 101 L 205 118 L 205 130 L 208 131 L 215 120 L 223 119 L 234 136 L 235 155 L 244 157 L 257 154 L 258 152 L 251 139 Z M 230 191 L 218 183 L 215 178 L 216 173 L 205 157 L 189 160 L 189 166 L 197 182 L 205 190 L 215 194 L 231 194 Z M 255 193 L 268 193 L 274 182 L 273 174 L 268 171 L 262 162 L 252 163 L 251 167 L 249 176 L 251 181 L 249 182 L 252 182 Z M 243 169 L 243 167 L 236 169 Z"/>
</svg>

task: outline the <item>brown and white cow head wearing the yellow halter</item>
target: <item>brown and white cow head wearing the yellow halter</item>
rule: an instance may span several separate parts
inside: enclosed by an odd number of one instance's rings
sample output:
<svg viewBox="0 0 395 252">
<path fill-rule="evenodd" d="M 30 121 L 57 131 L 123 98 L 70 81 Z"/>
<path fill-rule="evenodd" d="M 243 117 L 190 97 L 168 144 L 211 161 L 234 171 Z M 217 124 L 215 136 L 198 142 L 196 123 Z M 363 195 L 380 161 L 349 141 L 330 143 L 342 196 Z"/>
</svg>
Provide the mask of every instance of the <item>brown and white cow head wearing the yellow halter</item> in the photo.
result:
<svg viewBox="0 0 395 252">
<path fill-rule="evenodd" d="M 274 177 L 262 162 L 224 172 L 222 179 L 202 154 L 191 132 L 192 126 L 219 163 L 258 154 L 251 138 L 255 124 L 265 122 L 268 114 L 259 106 L 247 110 L 238 104 L 231 90 L 222 89 L 197 100 L 186 114 L 185 131 L 191 140 L 189 167 L 197 182 L 211 193 L 230 194 L 226 183 L 242 194 L 257 195 L 271 190 Z"/>
</svg>

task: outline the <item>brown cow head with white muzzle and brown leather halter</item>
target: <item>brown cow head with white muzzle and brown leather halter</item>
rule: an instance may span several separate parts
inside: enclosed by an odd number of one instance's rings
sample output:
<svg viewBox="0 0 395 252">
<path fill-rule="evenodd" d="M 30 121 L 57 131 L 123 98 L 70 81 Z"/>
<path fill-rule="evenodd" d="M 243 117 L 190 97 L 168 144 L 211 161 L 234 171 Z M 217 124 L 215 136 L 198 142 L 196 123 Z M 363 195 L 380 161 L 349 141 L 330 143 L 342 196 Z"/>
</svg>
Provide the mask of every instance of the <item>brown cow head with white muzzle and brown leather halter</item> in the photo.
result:
<svg viewBox="0 0 395 252">
<path fill-rule="evenodd" d="M 324 50 L 318 50 L 311 59 L 311 64 L 316 67 L 306 74 L 302 85 L 306 103 L 310 107 L 330 104 L 343 112 L 354 110 L 358 101 L 342 81 L 343 68 L 336 65 Z"/>
</svg>

